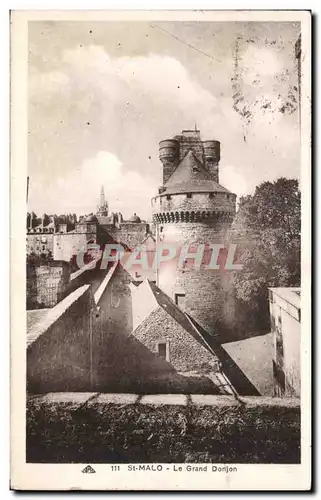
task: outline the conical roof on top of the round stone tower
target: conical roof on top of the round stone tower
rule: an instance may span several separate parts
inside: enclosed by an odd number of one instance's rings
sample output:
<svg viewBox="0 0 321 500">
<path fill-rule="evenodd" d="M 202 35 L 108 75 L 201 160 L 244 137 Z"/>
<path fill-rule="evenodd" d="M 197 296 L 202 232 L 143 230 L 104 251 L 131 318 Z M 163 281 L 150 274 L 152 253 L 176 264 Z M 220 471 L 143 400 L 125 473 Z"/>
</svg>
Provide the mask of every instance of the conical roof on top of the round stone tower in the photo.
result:
<svg viewBox="0 0 321 500">
<path fill-rule="evenodd" d="M 228 189 L 215 182 L 212 174 L 195 156 L 192 150 L 174 170 L 165 186 L 166 190 L 161 196 L 177 193 L 230 193 Z"/>
</svg>

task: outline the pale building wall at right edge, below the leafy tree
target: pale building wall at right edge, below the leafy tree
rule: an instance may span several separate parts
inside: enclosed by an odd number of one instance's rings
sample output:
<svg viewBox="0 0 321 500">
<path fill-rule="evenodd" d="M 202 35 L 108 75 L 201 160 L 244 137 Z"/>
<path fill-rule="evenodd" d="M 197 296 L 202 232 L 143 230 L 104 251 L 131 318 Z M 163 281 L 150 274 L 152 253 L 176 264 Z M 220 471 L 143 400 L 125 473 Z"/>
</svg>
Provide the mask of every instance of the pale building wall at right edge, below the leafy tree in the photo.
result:
<svg viewBox="0 0 321 500">
<path fill-rule="evenodd" d="M 270 288 L 275 395 L 300 397 L 300 288 Z"/>
</svg>

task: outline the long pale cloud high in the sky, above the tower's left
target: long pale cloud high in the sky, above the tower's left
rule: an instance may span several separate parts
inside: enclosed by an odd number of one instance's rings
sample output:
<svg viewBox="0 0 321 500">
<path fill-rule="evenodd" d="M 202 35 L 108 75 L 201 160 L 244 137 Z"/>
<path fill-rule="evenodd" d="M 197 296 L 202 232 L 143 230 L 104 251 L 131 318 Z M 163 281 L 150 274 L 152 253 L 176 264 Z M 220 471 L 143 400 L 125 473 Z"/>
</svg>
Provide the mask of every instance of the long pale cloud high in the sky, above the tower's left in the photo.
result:
<svg viewBox="0 0 321 500">
<path fill-rule="evenodd" d="M 63 61 L 74 77 L 91 80 L 113 96 L 118 84 L 133 87 L 137 92 L 151 93 L 155 98 L 174 101 L 176 105 L 215 106 L 216 98 L 193 81 L 184 66 L 175 58 L 148 56 L 112 58 L 102 47 L 90 45 L 66 50 Z M 117 95 L 116 95 L 117 97 Z"/>
</svg>

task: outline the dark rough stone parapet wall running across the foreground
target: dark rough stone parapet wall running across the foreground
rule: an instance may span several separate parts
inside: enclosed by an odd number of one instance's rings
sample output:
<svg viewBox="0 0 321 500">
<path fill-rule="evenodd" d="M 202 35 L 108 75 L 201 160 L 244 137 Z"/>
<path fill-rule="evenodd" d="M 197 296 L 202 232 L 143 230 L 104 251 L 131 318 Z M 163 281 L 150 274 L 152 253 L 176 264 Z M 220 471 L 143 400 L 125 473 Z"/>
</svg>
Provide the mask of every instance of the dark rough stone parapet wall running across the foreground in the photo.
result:
<svg viewBox="0 0 321 500">
<path fill-rule="evenodd" d="M 26 460 L 298 464 L 300 406 L 290 399 L 193 394 L 32 396 Z"/>
</svg>

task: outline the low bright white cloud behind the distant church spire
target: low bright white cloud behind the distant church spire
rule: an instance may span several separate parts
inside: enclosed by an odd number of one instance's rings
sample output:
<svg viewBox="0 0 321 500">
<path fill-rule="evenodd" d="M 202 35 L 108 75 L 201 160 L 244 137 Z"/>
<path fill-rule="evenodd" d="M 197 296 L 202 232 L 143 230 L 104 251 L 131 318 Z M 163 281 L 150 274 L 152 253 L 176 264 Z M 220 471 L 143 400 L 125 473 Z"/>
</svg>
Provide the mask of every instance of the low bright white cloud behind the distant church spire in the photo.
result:
<svg viewBox="0 0 321 500">
<path fill-rule="evenodd" d="M 145 211 L 138 215 L 145 219 L 150 216 L 150 200 L 157 186 L 137 172 L 124 172 L 120 160 L 107 151 L 99 151 L 93 158 L 86 159 L 79 169 L 57 178 L 51 185 L 31 182 L 32 203 L 29 209 L 38 214 L 95 213 L 101 185 L 104 186 L 110 212 L 119 211 L 128 218 L 138 212 L 138 206 L 142 206 Z"/>
</svg>

